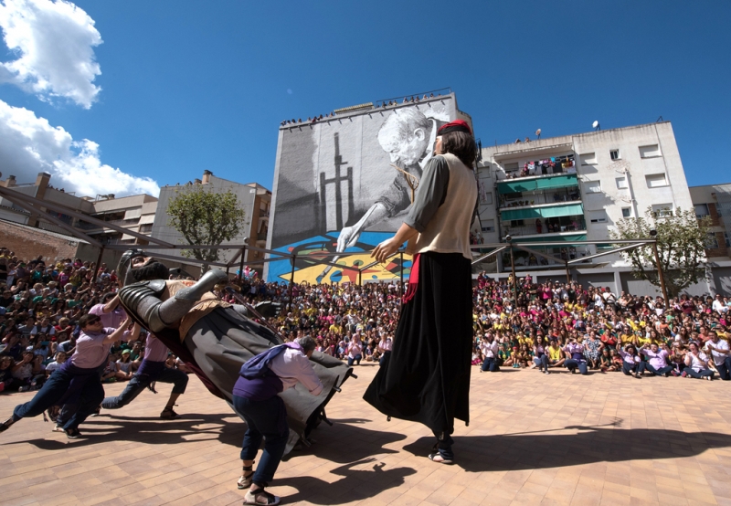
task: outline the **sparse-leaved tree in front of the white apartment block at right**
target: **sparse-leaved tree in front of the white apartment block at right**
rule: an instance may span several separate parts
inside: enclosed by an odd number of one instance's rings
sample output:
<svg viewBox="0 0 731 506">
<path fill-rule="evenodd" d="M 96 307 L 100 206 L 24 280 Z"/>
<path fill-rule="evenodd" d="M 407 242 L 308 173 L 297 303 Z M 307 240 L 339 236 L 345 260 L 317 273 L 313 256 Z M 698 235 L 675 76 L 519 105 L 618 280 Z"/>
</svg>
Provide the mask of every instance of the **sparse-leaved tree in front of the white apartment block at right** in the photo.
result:
<svg viewBox="0 0 731 506">
<path fill-rule="evenodd" d="M 644 217 L 624 218 L 617 222 L 617 230 L 609 237 L 620 239 L 651 238 L 650 231 L 657 230 L 657 252 L 665 279 L 668 297 L 675 297 L 682 290 L 705 278 L 705 248 L 711 219 L 698 219 L 695 211 L 680 207 L 653 211 L 648 207 Z M 660 276 L 652 246 L 622 251 L 621 255 L 632 266 L 632 274 L 660 287 Z"/>
</svg>

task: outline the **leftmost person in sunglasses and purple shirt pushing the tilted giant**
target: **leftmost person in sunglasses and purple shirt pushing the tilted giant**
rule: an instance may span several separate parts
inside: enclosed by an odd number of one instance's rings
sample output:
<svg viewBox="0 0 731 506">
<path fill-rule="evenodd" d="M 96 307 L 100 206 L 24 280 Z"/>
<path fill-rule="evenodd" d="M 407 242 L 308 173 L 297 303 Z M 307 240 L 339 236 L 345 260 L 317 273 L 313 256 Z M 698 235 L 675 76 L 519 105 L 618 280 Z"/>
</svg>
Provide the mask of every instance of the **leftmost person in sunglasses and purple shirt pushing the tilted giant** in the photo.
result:
<svg viewBox="0 0 731 506">
<path fill-rule="evenodd" d="M 131 323 L 128 319 L 119 329 L 105 329 L 101 318 L 95 314 L 85 314 L 79 318 L 81 334 L 74 354 L 51 374 L 30 401 L 16 406 L 13 416 L 0 424 L 0 432 L 7 430 L 21 418 L 38 416 L 49 407 L 63 405 L 70 396 L 78 395 L 78 409 L 62 428 L 69 439 L 79 437 L 79 424 L 96 410 L 104 398 L 99 367 L 107 360 L 112 343 L 137 339 L 140 335 L 140 326 L 137 323 L 132 332 L 127 330 Z"/>
</svg>

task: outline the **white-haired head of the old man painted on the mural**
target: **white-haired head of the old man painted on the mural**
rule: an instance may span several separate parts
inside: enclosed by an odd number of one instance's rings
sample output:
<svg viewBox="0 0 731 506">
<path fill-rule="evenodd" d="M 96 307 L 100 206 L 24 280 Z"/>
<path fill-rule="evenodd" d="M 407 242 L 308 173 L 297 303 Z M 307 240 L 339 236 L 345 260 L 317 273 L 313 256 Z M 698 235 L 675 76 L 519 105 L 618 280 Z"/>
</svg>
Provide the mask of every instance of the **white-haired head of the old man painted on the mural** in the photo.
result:
<svg viewBox="0 0 731 506">
<path fill-rule="evenodd" d="M 391 157 L 391 163 L 408 166 L 417 163 L 429 149 L 430 121 L 414 107 L 397 109 L 378 131 L 378 142 Z"/>
</svg>

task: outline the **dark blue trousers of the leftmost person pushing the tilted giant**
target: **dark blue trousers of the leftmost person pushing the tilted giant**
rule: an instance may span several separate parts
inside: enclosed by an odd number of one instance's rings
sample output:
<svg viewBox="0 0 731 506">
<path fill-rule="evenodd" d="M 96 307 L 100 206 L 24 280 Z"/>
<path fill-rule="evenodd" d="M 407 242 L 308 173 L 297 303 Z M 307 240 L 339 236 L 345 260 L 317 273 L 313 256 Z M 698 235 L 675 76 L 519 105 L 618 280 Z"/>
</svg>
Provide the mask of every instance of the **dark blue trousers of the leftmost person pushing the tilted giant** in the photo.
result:
<svg viewBox="0 0 731 506">
<path fill-rule="evenodd" d="M 13 418 L 38 416 L 51 406 L 56 406 L 58 401 L 69 389 L 73 374 L 57 369 L 48 377 L 48 381 L 38 393 L 25 404 L 16 406 L 13 411 Z M 79 424 L 86 420 L 87 416 L 96 411 L 104 398 L 104 387 L 101 386 L 99 374 L 90 374 L 79 390 L 79 405 L 76 412 L 64 423 L 64 429 L 77 429 Z"/>
</svg>

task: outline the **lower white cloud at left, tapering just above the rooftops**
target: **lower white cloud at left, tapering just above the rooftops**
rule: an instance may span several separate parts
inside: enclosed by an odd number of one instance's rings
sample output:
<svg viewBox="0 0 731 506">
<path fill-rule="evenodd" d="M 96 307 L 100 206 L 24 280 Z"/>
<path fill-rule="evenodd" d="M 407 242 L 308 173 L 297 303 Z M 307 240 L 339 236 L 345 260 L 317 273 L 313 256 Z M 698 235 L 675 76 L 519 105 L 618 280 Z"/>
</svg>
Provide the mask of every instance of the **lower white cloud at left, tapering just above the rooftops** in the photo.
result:
<svg viewBox="0 0 731 506">
<path fill-rule="evenodd" d="M 51 184 L 78 196 L 98 194 L 157 196 L 160 186 L 149 177 L 136 177 L 101 163 L 99 144 L 75 142 L 62 127 L 53 127 L 33 111 L 0 100 L 0 170 L 18 183 L 31 183 L 39 172 L 51 174 Z"/>
</svg>

